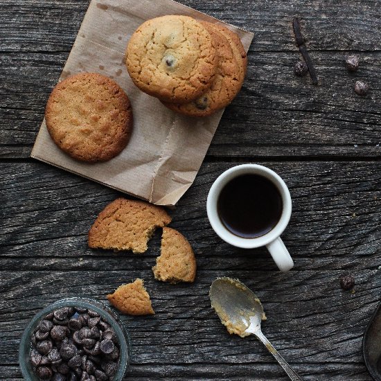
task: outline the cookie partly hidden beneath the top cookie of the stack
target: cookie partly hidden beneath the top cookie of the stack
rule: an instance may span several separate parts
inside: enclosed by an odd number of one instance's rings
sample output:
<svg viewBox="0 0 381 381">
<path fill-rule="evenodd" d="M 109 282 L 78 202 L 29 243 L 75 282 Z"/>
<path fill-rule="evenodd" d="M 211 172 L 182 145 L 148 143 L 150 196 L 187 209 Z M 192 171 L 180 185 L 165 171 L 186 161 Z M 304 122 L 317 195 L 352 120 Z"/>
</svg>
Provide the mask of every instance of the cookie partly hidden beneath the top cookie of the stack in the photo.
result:
<svg viewBox="0 0 381 381">
<path fill-rule="evenodd" d="M 227 37 L 215 29 L 213 24 L 205 21 L 201 24 L 215 41 L 218 51 L 218 68 L 211 88 L 190 103 L 163 103 L 169 109 L 188 116 L 208 116 L 226 107 L 240 91 L 244 79 Z"/>
</svg>

